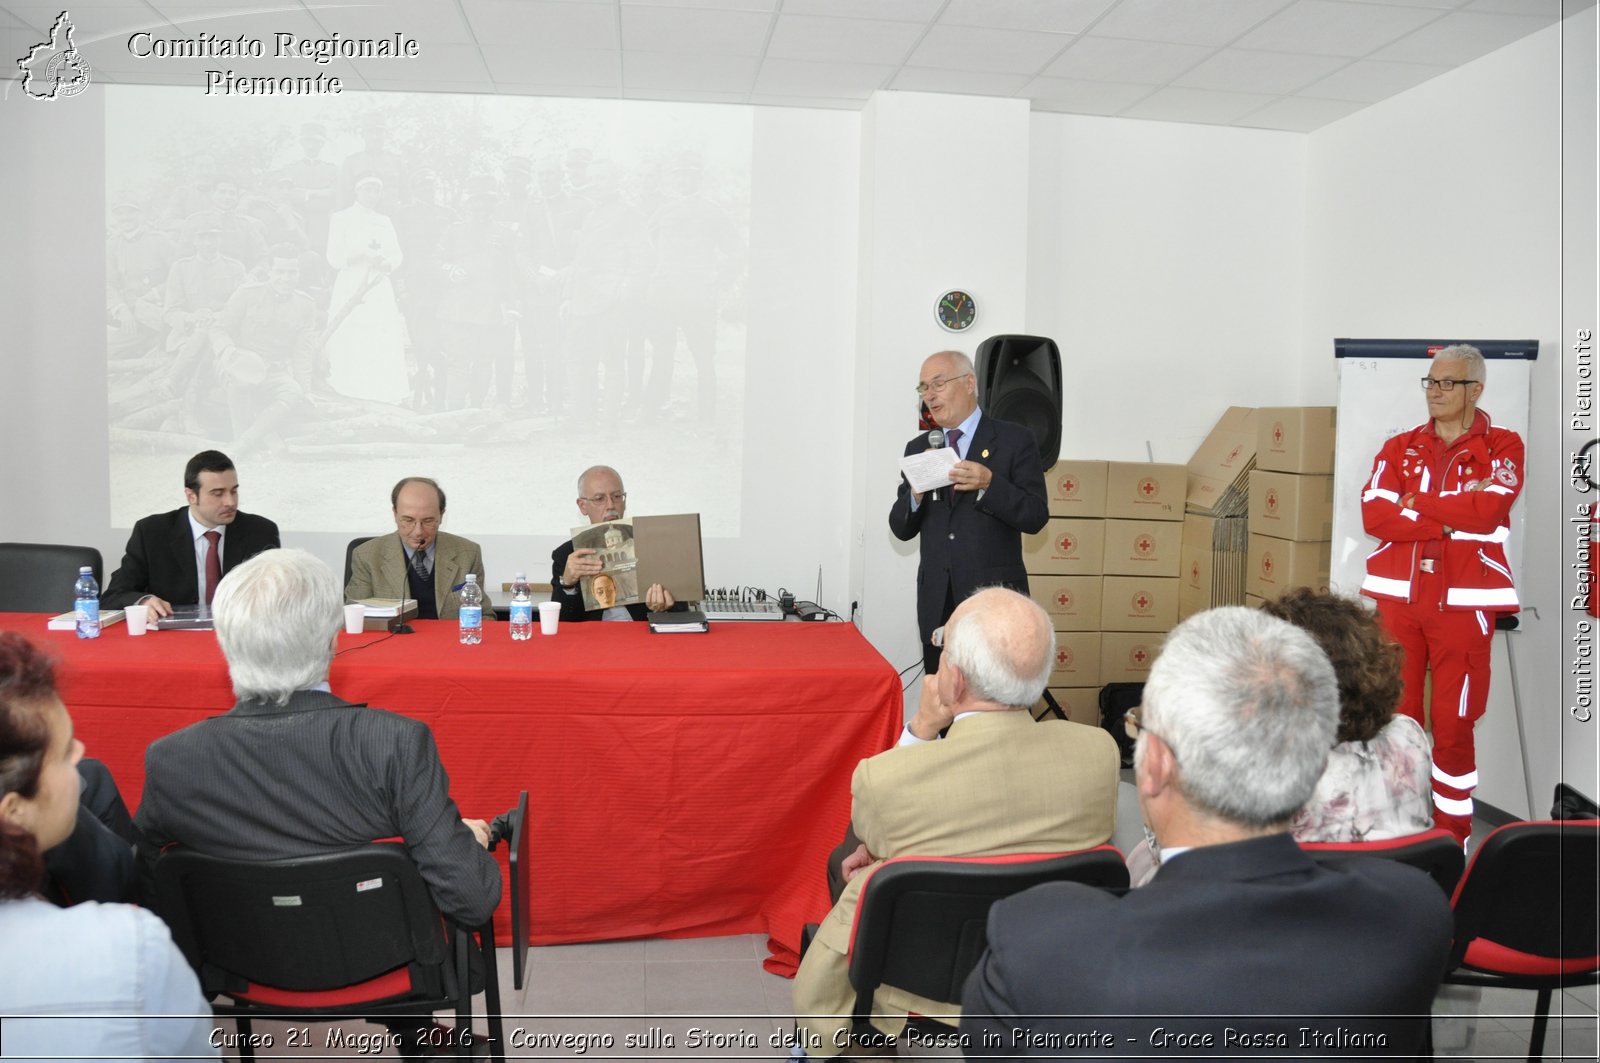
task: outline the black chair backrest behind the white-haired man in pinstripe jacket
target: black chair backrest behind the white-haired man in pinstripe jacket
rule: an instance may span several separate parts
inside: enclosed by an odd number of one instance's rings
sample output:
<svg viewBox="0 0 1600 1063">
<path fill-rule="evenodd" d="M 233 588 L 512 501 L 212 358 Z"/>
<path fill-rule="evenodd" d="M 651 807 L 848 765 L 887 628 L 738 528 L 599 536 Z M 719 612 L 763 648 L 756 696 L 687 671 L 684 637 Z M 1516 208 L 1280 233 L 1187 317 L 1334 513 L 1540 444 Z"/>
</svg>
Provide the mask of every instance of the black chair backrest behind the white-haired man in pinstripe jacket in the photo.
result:
<svg viewBox="0 0 1600 1063">
<path fill-rule="evenodd" d="M 208 994 L 325 993 L 395 970 L 410 978 L 384 996 L 454 991 L 443 921 L 402 845 L 261 861 L 173 847 L 155 906 Z"/>
</svg>

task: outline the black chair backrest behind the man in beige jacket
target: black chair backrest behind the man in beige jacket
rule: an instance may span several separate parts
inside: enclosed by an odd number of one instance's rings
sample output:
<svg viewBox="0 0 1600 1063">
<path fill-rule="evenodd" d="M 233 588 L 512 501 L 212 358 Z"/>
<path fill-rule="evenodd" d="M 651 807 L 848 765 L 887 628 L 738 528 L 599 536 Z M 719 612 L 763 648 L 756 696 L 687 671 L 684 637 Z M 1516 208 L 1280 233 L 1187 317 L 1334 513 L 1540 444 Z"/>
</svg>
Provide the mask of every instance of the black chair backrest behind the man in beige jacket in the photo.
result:
<svg viewBox="0 0 1600 1063">
<path fill-rule="evenodd" d="M 856 1017 L 870 1013 L 880 985 L 958 1002 L 989 945 L 989 908 L 1043 882 L 1118 889 L 1128 885 L 1128 868 L 1112 845 L 1046 855 L 906 856 L 875 868 L 851 929 Z"/>
</svg>

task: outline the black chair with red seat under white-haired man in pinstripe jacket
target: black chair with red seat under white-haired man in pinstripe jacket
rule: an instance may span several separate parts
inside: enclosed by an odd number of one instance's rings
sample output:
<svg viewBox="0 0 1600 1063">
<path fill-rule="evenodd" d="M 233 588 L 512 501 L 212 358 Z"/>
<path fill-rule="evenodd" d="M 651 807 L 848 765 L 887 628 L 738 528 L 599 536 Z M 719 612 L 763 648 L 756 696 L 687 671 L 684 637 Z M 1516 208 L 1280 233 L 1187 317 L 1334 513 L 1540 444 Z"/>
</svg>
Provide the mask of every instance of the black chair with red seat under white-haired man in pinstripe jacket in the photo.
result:
<svg viewBox="0 0 1600 1063">
<path fill-rule="evenodd" d="M 482 978 L 488 1055 L 504 1060 L 493 919 L 461 927 L 440 916 L 416 863 L 395 844 L 299 860 L 219 860 L 182 847 L 155 861 L 155 905 L 213 999 L 234 1017 L 253 1060 L 251 1018 L 365 1018 L 411 1029 L 403 1045 L 477 1055 L 472 983 Z M 474 962 L 477 951 L 482 962 Z M 226 996 L 230 1002 L 216 1002 Z M 432 1026 L 453 1009 L 456 1029 Z M 294 1047 L 294 1045 L 282 1045 Z"/>
</svg>

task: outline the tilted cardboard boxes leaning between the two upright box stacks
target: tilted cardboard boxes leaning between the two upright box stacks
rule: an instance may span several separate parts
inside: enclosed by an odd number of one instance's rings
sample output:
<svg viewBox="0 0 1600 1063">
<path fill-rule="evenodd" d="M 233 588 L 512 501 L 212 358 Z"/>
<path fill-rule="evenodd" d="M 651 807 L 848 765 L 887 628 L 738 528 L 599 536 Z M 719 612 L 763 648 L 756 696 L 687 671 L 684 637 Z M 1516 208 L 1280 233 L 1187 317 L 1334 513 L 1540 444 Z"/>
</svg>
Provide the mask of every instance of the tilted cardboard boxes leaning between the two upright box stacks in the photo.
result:
<svg viewBox="0 0 1600 1063">
<path fill-rule="evenodd" d="M 1178 620 L 1245 604 L 1245 514 L 1256 467 L 1256 411 L 1229 407 L 1189 459 Z"/>
</svg>

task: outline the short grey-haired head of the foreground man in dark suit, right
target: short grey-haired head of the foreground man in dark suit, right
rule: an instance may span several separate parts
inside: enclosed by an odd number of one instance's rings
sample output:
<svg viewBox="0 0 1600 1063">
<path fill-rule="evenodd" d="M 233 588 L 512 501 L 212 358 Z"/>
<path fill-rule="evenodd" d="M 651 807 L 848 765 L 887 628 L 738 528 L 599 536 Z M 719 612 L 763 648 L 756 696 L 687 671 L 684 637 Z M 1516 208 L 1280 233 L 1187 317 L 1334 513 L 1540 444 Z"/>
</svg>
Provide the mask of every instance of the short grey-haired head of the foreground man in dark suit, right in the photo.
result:
<svg viewBox="0 0 1600 1063">
<path fill-rule="evenodd" d="M 1173 749 L 1184 799 L 1251 829 L 1286 821 L 1312 796 L 1338 720 L 1328 656 L 1254 608 L 1186 620 L 1144 685 L 1142 722 Z"/>
</svg>

